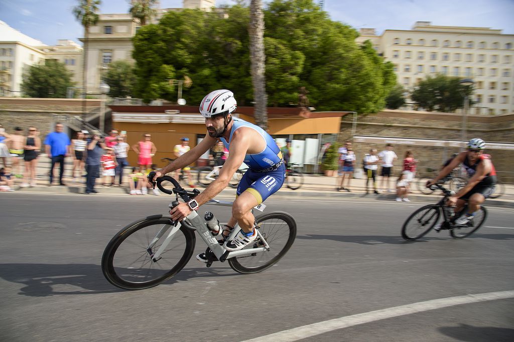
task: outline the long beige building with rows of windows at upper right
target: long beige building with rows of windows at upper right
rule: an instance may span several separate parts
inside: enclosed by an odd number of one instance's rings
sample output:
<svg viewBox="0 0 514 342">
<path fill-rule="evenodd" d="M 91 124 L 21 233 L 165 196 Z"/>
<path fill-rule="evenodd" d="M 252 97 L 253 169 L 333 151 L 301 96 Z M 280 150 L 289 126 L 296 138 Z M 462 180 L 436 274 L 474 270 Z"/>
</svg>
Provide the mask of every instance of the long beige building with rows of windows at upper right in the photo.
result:
<svg viewBox="0 0 514 342">
<path fill-rule="evenodd" d="M 394 64 L 398 83 L 412 90 L 435 73 L 471 78 L 474 114 L 514 112 L 514 35 L 483 27 L 433 26 L 417 22 L 412 30 L 361 29 L 357 42 L 371 40 Z"/>
</svg>

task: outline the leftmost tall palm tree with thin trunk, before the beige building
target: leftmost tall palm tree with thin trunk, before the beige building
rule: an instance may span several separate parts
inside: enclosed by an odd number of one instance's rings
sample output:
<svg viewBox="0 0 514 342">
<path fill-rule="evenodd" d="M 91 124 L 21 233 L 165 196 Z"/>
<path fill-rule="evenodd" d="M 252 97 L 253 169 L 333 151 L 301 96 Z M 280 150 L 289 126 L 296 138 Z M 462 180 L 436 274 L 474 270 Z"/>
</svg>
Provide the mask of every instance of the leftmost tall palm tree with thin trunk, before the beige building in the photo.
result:
<svg viewBox="0 0 514 342">
<path fill-rule="evenodd" d="M 85 121 L 86 112 L 86 93 L 87 93 L 87 40 L 89 35 L 89 27 L 96 25 L 100 16 L 98 15 L 98 7 L 100 0 L 79 0 L 79 5 L 72 9 L 75 18 L 84 26 L 84 59 L 82 62 L 82 116 Z"/>
</svg>

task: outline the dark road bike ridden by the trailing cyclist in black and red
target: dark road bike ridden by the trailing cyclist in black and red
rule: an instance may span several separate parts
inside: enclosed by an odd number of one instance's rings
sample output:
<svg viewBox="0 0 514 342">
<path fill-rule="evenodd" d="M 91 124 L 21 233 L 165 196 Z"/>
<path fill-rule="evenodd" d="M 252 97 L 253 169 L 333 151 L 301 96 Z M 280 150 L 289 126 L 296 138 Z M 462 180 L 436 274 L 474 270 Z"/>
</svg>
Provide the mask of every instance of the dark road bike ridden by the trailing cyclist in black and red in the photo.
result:
<svg viewBox="0 0 514 342">
<path fill-rule="evenodd" d="M 443 214 L 443 222 L 441 230 L 449 230 L 450 235 L 455 239 L 462 239 L 476 232 L 487 218 L 487 210 L 481 205 L 479 210 L 475 212 L 473 218 L 466 224 L 457 225 L 455 220 L 467 212 L 466 204 L 458 213 L 453 212 L 453 208 L 446 205 L 448 197 L 454 192 L 445 188 L 440 184 L 434 184 L 431 187 L 440 189 L 444 197 L 437 204 L 428 204 L 420 207 L 403 223 L 401 228 L 401 236 L 405 240 L 417 240 L 427 234 L 437 223 L 441 214 Z"/>
</svg>

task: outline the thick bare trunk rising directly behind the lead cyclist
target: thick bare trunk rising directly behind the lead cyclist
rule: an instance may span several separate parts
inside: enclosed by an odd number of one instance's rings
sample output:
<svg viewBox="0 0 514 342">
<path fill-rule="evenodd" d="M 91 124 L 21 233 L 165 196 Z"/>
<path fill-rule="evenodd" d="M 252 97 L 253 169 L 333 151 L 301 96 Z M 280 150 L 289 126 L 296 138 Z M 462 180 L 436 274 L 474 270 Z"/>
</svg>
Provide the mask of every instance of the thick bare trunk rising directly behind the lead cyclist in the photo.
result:
<svg viewBox="0 0 514 342">
<path fill-rule="evenodd" d="M 264 12 L 262 0 L 251 0 L 250 2 L 250 61 L 253 85 L 253 99 L 255 101 L 254 116 L 255 123 L 263 129 L 268 129 L 266 94 L 266 56 L 264 51 Z"/>
</svg>

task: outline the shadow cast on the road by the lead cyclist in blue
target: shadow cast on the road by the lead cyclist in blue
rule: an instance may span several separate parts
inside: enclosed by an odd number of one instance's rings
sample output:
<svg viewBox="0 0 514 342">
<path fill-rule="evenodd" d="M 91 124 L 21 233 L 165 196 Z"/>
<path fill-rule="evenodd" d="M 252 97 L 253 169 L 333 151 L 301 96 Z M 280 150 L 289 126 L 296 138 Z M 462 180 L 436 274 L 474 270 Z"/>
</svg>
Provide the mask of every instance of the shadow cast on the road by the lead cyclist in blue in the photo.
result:
<svg viewBox="0 0 514 342">
<path fill-rule="evenodd" d="M 195 277 L 237 275 L 226 273 L 227 269 L 183 269 L 175 277 L 164 282 L 173 284 Z M 231 270 L 230 270 L 231 271 Z M 0 277 L 11 282 L 24 284 L 19 294 L 31 297 L 52 295 L 79 295 L 123 292 L 108 283 L 100 265 L 92 263 L 46 264 L 46 263 L 3 263 Z M 63 290 L 66 286 L 66 290 Z M 69 289 L 75 286 L 83 289 Z"/>
</svg>

